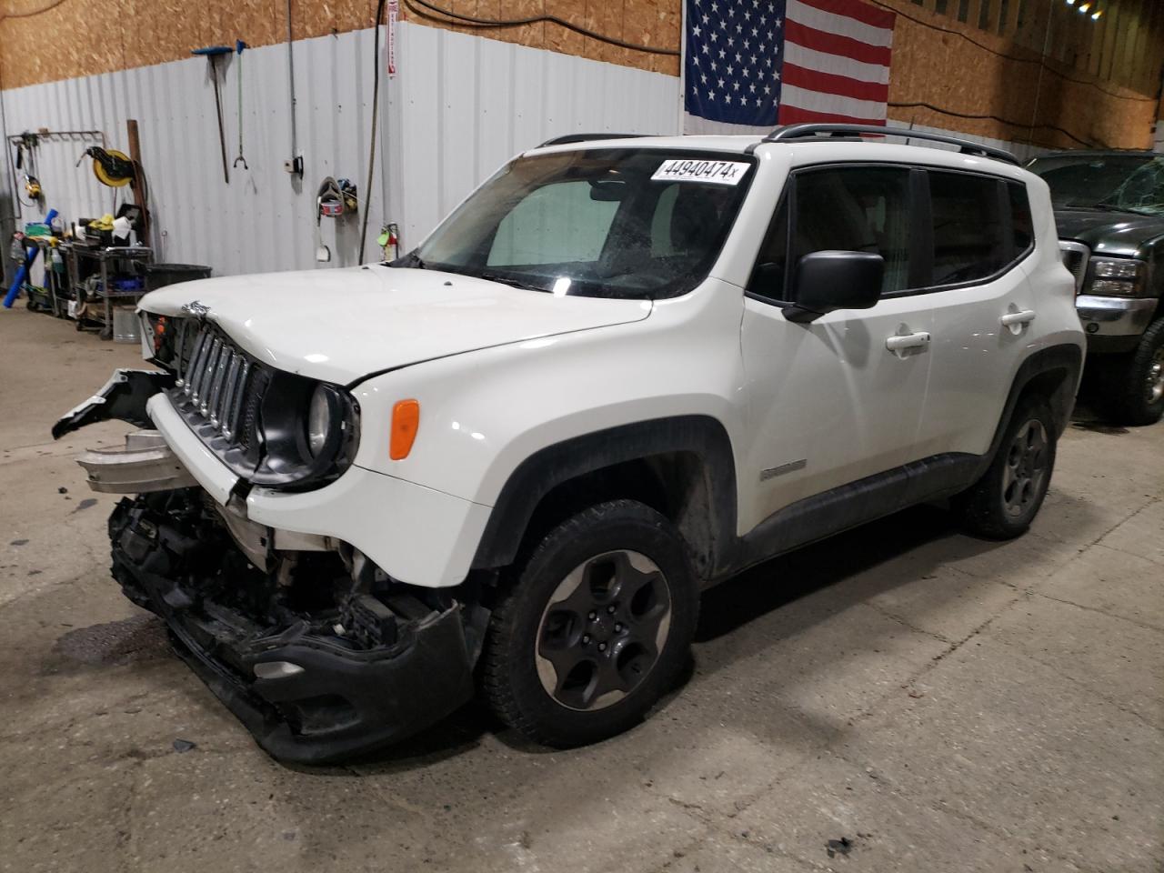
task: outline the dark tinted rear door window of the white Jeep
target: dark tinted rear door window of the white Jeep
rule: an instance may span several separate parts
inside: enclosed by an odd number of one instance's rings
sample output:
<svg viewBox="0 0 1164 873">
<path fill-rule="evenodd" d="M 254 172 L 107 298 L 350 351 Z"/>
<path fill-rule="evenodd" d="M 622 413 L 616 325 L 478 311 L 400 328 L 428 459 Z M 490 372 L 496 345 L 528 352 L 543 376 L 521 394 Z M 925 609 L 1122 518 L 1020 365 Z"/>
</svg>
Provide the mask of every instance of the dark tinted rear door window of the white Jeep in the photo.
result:
<svg viewBox="0 0 1164 873">
<path fill-rule="evenodd" d="M 1012 261 L 1001 184 L 985 176 L 930 172 L 935 285 L 981 279 Z"/>
</svg>

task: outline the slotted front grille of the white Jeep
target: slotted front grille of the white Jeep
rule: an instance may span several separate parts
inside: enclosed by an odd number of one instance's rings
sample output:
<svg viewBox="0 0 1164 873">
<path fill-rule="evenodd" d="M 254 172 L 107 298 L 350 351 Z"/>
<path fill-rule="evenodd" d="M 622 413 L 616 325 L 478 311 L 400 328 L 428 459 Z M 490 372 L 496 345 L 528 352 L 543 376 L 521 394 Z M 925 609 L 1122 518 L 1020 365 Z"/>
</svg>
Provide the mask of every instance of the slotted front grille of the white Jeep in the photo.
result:
<svg viewBox="0 0 1164 873">
<path fill-rule="evenodd" d="M 253 418 L 261 368 L 219 328 L 186 320 L 179 328 L 176 354 L 177 399 L 187 414 L 199 416 L 230 443 L 242 443 Z"/>
</svg>

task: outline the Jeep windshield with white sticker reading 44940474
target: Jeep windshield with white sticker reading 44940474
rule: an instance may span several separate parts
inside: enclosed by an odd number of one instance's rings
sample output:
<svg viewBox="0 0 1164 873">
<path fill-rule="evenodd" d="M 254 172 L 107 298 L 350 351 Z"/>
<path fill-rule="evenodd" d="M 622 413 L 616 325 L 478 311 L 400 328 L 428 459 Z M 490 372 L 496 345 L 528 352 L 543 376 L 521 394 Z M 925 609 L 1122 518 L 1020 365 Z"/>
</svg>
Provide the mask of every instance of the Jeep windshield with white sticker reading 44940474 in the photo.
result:
<svg viewBox="0 0 1164 873">
<path fill-rule="evenodd" d="M 675 297 L 711 269 L 754 163 L 644 149 L 517 158 L 395 263 L 556 294 Z"/>
</svg>

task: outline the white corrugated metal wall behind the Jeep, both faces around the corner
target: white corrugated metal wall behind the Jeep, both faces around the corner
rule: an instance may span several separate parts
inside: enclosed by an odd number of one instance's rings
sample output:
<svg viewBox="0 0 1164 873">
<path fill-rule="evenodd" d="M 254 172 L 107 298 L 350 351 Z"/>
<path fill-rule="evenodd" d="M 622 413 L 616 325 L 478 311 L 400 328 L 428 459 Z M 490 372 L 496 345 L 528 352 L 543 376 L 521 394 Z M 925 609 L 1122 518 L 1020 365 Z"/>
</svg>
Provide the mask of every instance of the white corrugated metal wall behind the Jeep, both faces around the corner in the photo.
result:
<svg viewBox="0 0 1164 873">
<path fill-rule="evenodd" d="M 291 156 L 285 45 L 242 55 L 249 170 L 232 170 L 229 185 L 204 58 L 6 91 L 5 127 L 92 128 L 128 151 L 126 120 L 137 119 L 158 260 L 211 264 L 215 275 L 310 269 L 320 180 L 348 177 L 365 194 L 372 48 L 370 29 L 294 44 L 301 185 L 283 170 Z M 411 23 L 399 26 L 397 56 L 399 74 L 382 79 L 369 261 L 378 257 L 385 214 L 414 244 L 506 158 L 551 136 L 677 130 L 679 83 L 670 76 Z M 237 152 L 237 70 L 232 56 L 221 83 L 229 161 Z M 74 168 L 86 144 L 45 141 L 37 149 L 45 205 L 70 220 L 113 211 L 114 192 L 97 183 L 90 161 Z M 21 213 L 21 223 L 41 217 L 28 206 Z M 333 257 L 319 267 L 356 263 L 355 218 L 324 219 L 322 239 Z"/>
</svg>

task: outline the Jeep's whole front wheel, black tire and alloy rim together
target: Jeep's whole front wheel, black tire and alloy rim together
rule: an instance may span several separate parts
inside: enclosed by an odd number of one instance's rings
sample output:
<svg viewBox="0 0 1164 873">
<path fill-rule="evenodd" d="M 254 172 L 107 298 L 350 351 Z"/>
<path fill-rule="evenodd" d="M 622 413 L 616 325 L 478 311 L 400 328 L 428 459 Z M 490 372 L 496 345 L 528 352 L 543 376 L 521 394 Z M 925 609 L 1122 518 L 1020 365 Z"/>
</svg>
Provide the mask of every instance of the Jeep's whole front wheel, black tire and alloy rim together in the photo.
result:
<svg viewBox="0 0 1164 873">
<path fill-rule="evenodd" d="M 687 661 L 700 595 L 682 538 L 611 501 L 551 531 L 501 591 L 481 683 L 497 716 L 568 747 L 637 724 Z"/>
</svg>

